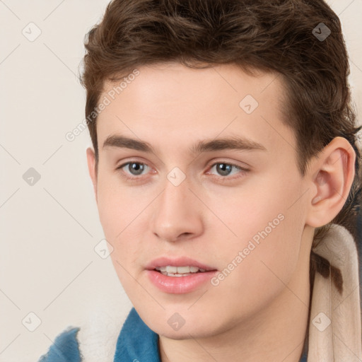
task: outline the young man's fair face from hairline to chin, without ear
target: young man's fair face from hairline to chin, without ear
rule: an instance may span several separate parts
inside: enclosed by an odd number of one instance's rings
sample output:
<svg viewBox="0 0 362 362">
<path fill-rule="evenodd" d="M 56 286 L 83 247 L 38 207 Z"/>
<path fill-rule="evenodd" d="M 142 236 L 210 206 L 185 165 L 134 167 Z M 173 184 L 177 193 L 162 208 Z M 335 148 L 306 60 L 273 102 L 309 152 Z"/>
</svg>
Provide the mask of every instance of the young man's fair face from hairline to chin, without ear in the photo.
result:
<svg viewBox="0 0 362 362">
<path fill-rule="evenodd" d="M 100 100 L 119 83 L 106 83 Z M 139 68 L 98 116 L 100 222 L 124 290 L 158 334 L 246 326 L 284 308 L 277 301 L 287 292 L 302 304 L 291 291 L 309 275 L 307 186 L 293 131 L 281 122 L 283 92 L 275 74 L 158 64 Z M 215 143 L 230 138 L 240 149 Z M 91 169 L 92 160 L 88 151 Z M 164 275 L 167 266 L 186 268 Z M 188 273 L 197 267 L 209 271 Z"/>
</svg>

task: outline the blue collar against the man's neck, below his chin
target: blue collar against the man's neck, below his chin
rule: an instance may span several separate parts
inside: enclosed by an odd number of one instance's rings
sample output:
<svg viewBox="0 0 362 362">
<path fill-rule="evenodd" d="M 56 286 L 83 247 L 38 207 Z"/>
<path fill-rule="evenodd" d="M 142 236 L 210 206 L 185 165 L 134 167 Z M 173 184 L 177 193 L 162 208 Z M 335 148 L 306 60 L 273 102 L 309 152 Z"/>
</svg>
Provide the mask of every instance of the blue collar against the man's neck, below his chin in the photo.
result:
<svg viewBox="0 0 362 362">
<path fill-rule="evenodd" d="M 145 325 L 134 308 L 117 339 L 114 362 L 122 361 L 160 362 L 158 334 Z M 307 362 L 307 354 L 303 354 L 300 362 Z"/>
</svg>

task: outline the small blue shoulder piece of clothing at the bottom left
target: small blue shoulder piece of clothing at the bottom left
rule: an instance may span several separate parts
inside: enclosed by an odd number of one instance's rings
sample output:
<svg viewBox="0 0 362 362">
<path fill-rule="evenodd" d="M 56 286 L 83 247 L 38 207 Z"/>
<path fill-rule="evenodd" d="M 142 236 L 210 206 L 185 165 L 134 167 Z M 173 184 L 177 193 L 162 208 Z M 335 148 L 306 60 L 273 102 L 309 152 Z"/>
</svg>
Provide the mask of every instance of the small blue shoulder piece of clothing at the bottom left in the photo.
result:
<svg viewBox="0 0 362 362">
<path fill-rule="evenodd" d="M 58 334 L 47 354 L 38 362 L 81 362 L 77 334 L 79 327 L 68 327 Z"/>
</svg>

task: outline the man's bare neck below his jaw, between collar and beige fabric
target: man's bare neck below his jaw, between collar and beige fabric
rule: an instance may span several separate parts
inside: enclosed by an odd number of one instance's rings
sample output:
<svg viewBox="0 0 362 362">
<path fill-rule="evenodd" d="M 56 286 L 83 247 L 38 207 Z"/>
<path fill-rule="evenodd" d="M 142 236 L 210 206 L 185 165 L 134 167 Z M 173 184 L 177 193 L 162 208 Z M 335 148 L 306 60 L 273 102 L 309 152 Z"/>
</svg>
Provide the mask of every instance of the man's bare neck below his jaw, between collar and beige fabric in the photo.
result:
<svg viewBox="0 0 362 362">
<path fill-rule="evenodd" d="M 310 247 L 303 243 L 295 273 L 273 303 L 257 315 L 210 337 L 159 338 L 162 362 L 299 362 L 308 333 Z M 277 276 L 276 276 L 277 278 Z"/>
</svg>

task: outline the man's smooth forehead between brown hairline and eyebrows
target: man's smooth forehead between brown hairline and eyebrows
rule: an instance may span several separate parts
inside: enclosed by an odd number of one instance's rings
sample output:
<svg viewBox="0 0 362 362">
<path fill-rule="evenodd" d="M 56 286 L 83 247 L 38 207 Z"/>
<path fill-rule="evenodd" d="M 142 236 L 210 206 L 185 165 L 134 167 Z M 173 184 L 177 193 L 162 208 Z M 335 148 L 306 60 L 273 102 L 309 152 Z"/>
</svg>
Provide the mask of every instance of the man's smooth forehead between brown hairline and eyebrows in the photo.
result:
<svg viewBox="0 0 362 362">
<path fill-rule="evenodd" d="M 100 148 L 111 134 L 187 148 L 218 135 L 243 136 L 265 148 L 295 143 L 282 122 L 284 87 L 274 73 L 251 75 L 233 64 L 192 69 L 165 63 L 137 70 L 137 76 L 105 83 L 100 101 L 110 103 L 98 116 Z"/>
</svg>

